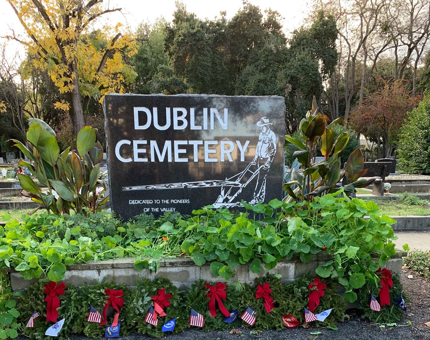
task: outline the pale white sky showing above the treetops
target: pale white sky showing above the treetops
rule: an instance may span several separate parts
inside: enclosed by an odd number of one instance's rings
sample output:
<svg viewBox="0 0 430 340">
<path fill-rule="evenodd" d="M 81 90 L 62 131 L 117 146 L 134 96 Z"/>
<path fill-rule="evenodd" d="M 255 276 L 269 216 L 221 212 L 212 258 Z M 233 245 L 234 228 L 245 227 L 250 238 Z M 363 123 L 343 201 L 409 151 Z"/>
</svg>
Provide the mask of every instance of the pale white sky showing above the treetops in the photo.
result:
<svg viewBox="0 0 430 340">
<path fill-rule="evenodd" d="M 105 0 L 104 2 L 109 3 L 110 8 L 122 8 L 122 13 L 111 13 L 108 20 L 112 24 L 121 21 L 132 30 L 141 21 L 153 23 L 160 16 L 171 21 L 175 10 L 175 0 Z M 231 18 L 242 7 L 242 0 L 184 0 L 182 2 L 189 12 L 196 13 L 202 19 L 219 16 L 220 11 L 226 11 L 227 18 Z M 259 6 L 262 11 L 270 7 L 280 12 L 285 18 L 283 26 L 287 34 L 303 23 L 310 9 L 307 0 L 251 0 L 250 2 Z M 23 33 L 21 24 L 9 3 L 6 0 L 0 0 L 0 36 L 9 34 L 10 28 L 13 28 L 16 34 Z M 8 47 L 11 54 L 19 48 L 16 43 L 8 43 Z"/>
</svg>

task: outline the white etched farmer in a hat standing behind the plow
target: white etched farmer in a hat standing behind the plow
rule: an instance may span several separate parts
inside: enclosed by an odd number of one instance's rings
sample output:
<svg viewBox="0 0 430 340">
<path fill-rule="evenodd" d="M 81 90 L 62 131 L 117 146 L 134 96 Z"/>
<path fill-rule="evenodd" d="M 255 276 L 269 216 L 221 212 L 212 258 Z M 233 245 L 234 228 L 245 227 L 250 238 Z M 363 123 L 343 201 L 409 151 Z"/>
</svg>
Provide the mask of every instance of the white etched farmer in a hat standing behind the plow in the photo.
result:
<svg viewBox="0 0 430 340">
<path fill-rule="evenodd" d="M 257 165 L 257 168 L 261 165 L 263 167 L 256 177 L 257 183 L 255 184 L 254 198 L 249 202 L 250 204 L 264 202 L 264 196 L 266 196 L 266 177 L 276 153 L 276 135 L 270 130 L 271 125 L 273 123 L 270 123 L 267 117 L 262 117 L 257 123 L 261 132 L 258 136 L 258 144 L 255 149 L 255 158 L 252 160 L 252 165 Z"/>
</svg>

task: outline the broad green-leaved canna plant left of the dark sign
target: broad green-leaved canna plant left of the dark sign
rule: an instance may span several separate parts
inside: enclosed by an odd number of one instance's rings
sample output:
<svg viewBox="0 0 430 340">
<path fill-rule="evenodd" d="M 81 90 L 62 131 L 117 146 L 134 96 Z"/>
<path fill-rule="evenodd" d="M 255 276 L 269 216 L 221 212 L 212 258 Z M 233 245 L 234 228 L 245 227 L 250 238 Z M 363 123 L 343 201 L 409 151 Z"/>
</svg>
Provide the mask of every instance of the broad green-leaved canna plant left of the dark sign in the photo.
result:
<svg viewBox="0 0 430 340">
<path fill-rule="evenodd" d="M 96 213 L 108 201 L 109 195 L 99 200 L 107 185 L 100 175 L 103 148 L 95 140 L 95 131 L 84 126 L 77 135 L 77 151 L 68 147 L 60 153 L 54 130 L 43 120 L 33 118 L 29 119 L 28 147 L 12 139 L 14 146 L 34 162 L 32 165 L 22 160 L 18 165 L 26 166 L 37 182 L 47 187 L 47 192 L 42 192 L 31 176 L 18 175 L 21 196 L 40 204 L 32 213 L 41 208 L 55 214 L 68 214 L 71 210 Z"/>
</svg>

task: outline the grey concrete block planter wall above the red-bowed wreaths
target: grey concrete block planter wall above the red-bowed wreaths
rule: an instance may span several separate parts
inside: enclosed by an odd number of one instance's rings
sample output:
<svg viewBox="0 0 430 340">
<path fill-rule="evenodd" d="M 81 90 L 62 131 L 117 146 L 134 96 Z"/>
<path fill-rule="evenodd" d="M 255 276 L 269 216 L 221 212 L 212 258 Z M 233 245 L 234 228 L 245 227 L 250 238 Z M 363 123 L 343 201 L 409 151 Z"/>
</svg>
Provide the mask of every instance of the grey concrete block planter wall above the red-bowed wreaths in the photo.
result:
<svg viewBox="0 0 430 340">
<path fill-rule="evenodd" d="M 402 270 L 402 257 L 406 256 L 406 251 L 397 251 L 396 255 L 388 260 L 387 268 L 393 273 L 400 273 Z M 279 273 L 282 275 L 281 282 L 293 281 L 304 273 L 315 272 L 316 267 L 320 263 L 324 263 L 331 257 L 325 253 L 312 255 L 312 259 L 308 263 L 302 263 L 298 255 L 294 255 L 292 259 L 278 262 L 276 268 L 270 270 L 269 273 Z M 117 284 L 125 284 L 129 287 L 135 285 L 141 278 L 154 279 L 156 277 L 165 277 L 179 287 L 189 287 L 192 283 L 199 279 L 208 281 L 224 281 L 221 278 L 213 276 L 209 264 L 196 266 L 190 258 L 175 258 L 162 259 L 160 269 L 157 273 L 148 272 L 147 270 L 138 271 L 133 267 L 135 260 L 133 258 L 120 258 L 115 260 L 94 261 L 83 264 L 75 264 L 69 266 L 64 278 L 66 285 L 81 286 L 85 282 L 115 282 Z M 266 270 L 259 274 L 254 274 L 249 270 L 249 264 L 243 264 L 237 267 L 237 278 L 240 282 L 252 284 L 254 279 L 259 276 L 264 276 Z M 237 280 L 236 276 L 229 282 Z M 18 272 L 11 273 L 12 289 L 20 291 L 34 284 L 37 279 L 25 280 Z"/>
</svg>

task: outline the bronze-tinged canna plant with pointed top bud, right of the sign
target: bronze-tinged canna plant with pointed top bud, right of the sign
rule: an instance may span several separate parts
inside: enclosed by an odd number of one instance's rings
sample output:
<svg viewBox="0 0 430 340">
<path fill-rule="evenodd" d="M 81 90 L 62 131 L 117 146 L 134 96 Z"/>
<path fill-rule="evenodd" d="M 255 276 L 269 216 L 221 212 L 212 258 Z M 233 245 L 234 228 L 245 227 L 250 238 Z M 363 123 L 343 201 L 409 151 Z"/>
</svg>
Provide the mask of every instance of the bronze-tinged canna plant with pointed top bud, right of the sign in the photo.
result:
<svg viewBox="0 0 430 340">
<path fill-rule="evenodd" d="M 347 183 L 344 191 L 350 195 L 356 188 L 367 187 L 376 179 L 360 178 L 368 169 L 363 169 L 364 159 L 359 148 L 351 153 L 344 170 L 341 170 L 339 153 L 348 144 L 349 134 L 341 133 L 335 140 L 332 126 L 344 123 L 344 120 L 338 118 L 328 124 L 329 117 L 321 112 L 322 110 L 316 104 L 316 98 L 313 96 L 312 109 L 307 112 L 299 126 L 299 132 L 304 142 L 290 135 L 285 136 L 286 146 L 304 168 L 303 173 L 292 168 L 291 180 L 284 184 L 284 190 L 288 193 L 288 196 L 284 198 L 285 202 L 313 201 L 315 196 L 334 193 L 339 189 L 338 183 L 342 182 L 344 178 Z M 324 160 L 316 162 L 318 145 L 320 145 Z"/>
</svg>

